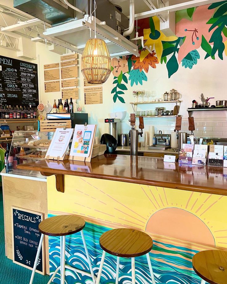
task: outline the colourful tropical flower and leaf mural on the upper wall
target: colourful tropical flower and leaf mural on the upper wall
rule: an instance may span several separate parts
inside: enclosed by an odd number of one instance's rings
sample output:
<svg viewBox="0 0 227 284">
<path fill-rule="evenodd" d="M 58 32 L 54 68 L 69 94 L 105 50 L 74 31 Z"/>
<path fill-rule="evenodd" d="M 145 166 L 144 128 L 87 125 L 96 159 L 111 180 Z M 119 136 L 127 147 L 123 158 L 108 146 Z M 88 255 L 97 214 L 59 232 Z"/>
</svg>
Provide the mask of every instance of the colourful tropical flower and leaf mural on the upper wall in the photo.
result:
<svg viewBox="0 0 227 284">
<path fill-rule="evenodd" d="M 127 84 L 142 85 L 147 81 L 146 73 L 158 64 L 166 65 L 170 78 L 180 65 L 192 69 L 198 60 L 208 57 L 223 60 L 223 56 L 227 56 L 226 12 L 227 1 L 176 11 L 175 36 L 164 35 L 157 16 L 138 20 L 138 36 L 144 37 L 144 44 L 152 53 L 143 49 L 138 40 L 139 57 L 130 55 L 112 59 L 114 102 L 125 103 L 123 96 Z M 201 49 L 206 52 L 204 58 L 200 58 Z"/>
</svg>

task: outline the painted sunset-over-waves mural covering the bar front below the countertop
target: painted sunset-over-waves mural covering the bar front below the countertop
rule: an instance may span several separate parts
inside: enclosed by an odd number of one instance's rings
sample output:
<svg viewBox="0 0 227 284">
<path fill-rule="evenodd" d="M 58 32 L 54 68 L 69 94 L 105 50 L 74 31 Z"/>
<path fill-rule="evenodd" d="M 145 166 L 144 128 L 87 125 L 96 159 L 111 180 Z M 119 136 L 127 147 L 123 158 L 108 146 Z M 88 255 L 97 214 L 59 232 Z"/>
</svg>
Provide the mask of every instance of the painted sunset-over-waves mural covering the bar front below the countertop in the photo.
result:
<svg viewBox="0 0 227 284">
<path fill-rule="evenodd" d="M 152 237 L 156 283 L 199 284 L 201 279 L 192 269 L 193 255 L 214 247 L 227 249 L 227 196 L 74 176 L 65 178 L 64 194 L 56 191 L 54 177 L 47 178 L 47 185 L 49 217 L 75 214 L 85 219 L 84 234 L 96 275 L 102 256 L 99 237 L 110 228 L 135 228 Z M 67 264 L 89 270 L 80 233 L 66 237 L 66 250 Z M 59 238 L 49 238 L 49 255 L 53 273 L 60 257 Z M 136 257 L 135 266 L 136 283 L 150 284 L 146 256 Z M 115 283 L 115 274 L 116 257 L 107 253 L 101 284 Z M 59 276 L 54 282 L 60 283 Z M 66 283 L 91 284 L 92 280 L 67 270 Z M 120 259 L 119 283 L 131 283 L 130 259 Z"/>
</svg>

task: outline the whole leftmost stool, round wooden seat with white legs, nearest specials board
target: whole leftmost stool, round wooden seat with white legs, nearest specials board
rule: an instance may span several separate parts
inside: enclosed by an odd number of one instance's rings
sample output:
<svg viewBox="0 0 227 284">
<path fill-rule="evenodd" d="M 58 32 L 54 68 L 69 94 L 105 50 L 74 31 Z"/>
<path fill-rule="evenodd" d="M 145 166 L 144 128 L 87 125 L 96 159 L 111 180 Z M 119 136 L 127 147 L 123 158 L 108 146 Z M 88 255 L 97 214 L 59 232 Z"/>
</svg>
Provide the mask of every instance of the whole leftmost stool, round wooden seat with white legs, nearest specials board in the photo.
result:
<svg viewBox="0 0 227 284">
<path fill-rule="evenodd" d="M 43 220 L 39 224 L 39 232 L 41 232 L 42 234 L 41 234 L 41 238 L 39 241 L 39 247 L 37 250 L 37 254 L 35 257 L 35 263 L 34 263 L 32 274 L 31 274 L 30 284 L 32 284 L 33 279 L 34 279 L 35 269 L 36 269 L 37 262 L 39 259 L 39 254 L 42 248 L 44 235 L 60 236 L 60 266 L 55 270 L 54 274 L 52 275 L 52 277 L 50 278 L 47 284 L 50 284 L 52 282 L 52 280 L 54 279 L 59 269 L 60 269 L 61 284 L 64 284 L 65 283 L 65 268 L 71 269 L 73 271 L 76 271 L 77 273 L 81 273 L 81 274 L 92 277 L 93 283 L 95 284 L 96 277 L 94 276 L 94 273 L 93 273 L 87 245 L 85 242 L 85 237 L 83 233 L 84 227 L 85 227 L 85 220 L 75 215 L 60 215 L 60 216 L 51 217 L 51 218 L 47 218 Z M 81 233 L 81 237 L 82 237 L 84 248 L 85 248 L 85 253 L 87 256 L 87 261 L 88 261 L 89 268 L 90 268 L 90 273 L 76 269 L 70 265 L 65 265 L 65 236 L 69 236 L 77 232 Z"/>
</svg>

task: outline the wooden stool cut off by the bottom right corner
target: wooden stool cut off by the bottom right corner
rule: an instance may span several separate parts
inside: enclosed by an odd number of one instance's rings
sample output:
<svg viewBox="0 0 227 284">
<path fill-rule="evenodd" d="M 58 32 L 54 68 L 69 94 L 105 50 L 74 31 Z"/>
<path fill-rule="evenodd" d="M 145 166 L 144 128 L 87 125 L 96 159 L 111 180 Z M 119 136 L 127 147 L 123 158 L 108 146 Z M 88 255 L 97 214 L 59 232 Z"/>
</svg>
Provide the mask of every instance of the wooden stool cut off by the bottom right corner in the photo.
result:
<svg viewBox="0 0 227 284">
<path fill-rule="evenodd" d="M 192 267 L 202 278 L 201 284 L 227 283 L 227 251 L 205 250 L 192 257 Z"/>
</svg>

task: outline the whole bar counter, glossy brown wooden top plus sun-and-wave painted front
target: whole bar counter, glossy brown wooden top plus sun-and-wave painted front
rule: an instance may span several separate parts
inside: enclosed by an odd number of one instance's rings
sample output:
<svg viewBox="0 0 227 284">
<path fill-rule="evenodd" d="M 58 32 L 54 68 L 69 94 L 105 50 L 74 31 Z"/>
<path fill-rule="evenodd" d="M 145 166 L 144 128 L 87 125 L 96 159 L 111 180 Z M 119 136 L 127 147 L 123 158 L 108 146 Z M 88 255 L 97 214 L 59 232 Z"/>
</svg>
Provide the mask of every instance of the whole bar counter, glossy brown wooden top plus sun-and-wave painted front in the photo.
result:
<svg viewBox="0 0 227 284">
<path fill-rule="evenodd" d="M 227 169 L 164 163 L 159 158 L 102 155 L 91 163 L 42 160 L 19 165 L 47 176 L 48 217 L 85 219 L 85 239 L 97 275 L 99 238 L 111 228 L 134 228 L 154 241 L 150 253 L 156 283 L 199 283 L 193 255 L 227 249 Z M 40 200 L 42 202 L 42 200 Z M 49 237 L 50 273 L 59 260 L 59 238 Z M 66 238 L 66 262 L 89 270 L 80 234 Z M 146 257 L 135 258 L 136 283 L 151 283 Z M 106 257 L 102 283 L 114 283 L 116 257 Z M 54 282 L 59 283 L 59 276 Z M 66 284 L 90 283 L 66 273 Z M 129 259 L 120 260 L 119 283 L 131 282 Z"/>
</svg>

